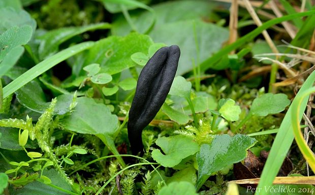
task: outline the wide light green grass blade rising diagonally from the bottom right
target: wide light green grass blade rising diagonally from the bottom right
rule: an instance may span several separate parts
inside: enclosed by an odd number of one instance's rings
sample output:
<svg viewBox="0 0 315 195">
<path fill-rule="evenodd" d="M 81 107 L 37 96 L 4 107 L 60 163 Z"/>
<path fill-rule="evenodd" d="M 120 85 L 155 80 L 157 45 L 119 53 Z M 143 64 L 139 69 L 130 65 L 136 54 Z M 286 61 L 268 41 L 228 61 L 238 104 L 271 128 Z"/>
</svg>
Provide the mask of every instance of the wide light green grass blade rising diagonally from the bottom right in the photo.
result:
<svg viewBox="0 0 315 195">
<path fill-rule="evenodd" d="M 297 93 L 296 98 L 293 100 L 292 104 L 296 104 L 295 102 L 297 102 L 301 94 L 307 89 L 309 89 L 310 87 L 312 87 L 314 81 L 315 81 L 315 72 L 312 72 L 312 74 L 309 75 L 309 77 L 306 79 L 306 81 L 302 85 L 301 89 Z M 307 99 L 304 99 L 301 102 L 301 110 L 298 113 L 300 118 L 302 117 L 304 113 L 306 104 L 307 104 Z M 292 110 L 293 108 L 292 106 L 290 106 L 285 118 L 283 118 L 281 122 L 279 131 L 272 144 L 269 156 L 267 158 L 265 167 L 261 175 L 260 183 L 257 186 L 257 188 L 265 188 L 265 186 L 272 185 L 272 181 L 274 180 L 275 176 L 279 172 L 279 169 L 283 163 L 283 160 L 285 159 L 291 147 L 291 144 L 294 139 L 292 121 L 291 121 Z M 255 194 L 267 194 L 267 191 L 266 190 L 262 190 L 259 192 L 257 191 Z"/>
</svg>

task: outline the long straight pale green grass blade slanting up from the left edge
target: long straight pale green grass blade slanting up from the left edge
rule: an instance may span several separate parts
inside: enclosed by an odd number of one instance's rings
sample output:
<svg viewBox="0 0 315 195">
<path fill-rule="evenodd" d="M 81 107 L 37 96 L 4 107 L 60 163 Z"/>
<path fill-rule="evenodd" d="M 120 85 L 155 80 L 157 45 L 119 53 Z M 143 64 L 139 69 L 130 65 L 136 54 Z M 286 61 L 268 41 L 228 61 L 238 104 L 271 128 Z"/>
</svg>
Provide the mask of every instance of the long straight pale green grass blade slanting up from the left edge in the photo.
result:
<svg viewBox="0 0 315 195">
<path fill-rule="evenodd" d="M 52 55 L 48 57 L 47 59 L 41 61 L 35 67 L 29 69 L 28 71 L 23 73 L 21 76 L 19 76 L 18 78 L 13 80 L 11 83 L 9 83 L 7 86 L 5 86 L 3 88 L 3 98 L 7 98 L 7 96 L 14 93 L 16 90 L 24 86 L 29 81 L 35 79 L 36 77 L 43 74 L 47 70 L 51 69 L 59 62 L 64 61 L 65 59 L 68 59 L 69 57 L 85 49 L 91 48 L 93 45 L 94 45 L 94 42 L 80 43 L 72 47 L 69 47 L 65 50 L 62 50 L 56 53 L 55 55 Z"/>
</svg>

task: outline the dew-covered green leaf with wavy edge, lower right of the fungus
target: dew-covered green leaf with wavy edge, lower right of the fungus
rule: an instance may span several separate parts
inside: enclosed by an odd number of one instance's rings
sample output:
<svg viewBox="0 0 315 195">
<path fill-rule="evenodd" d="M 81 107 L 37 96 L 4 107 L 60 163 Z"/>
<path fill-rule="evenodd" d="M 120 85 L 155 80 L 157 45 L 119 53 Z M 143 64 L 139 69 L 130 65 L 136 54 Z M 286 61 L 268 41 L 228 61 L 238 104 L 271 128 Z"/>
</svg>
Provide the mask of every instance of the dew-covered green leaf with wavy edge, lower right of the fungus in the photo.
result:
<svg viewBox="0 0 315 195">
<path fill-rule="evenodd" d="M 257 141 L 246 135 L 217 135 L 211 145 L 203 144 L 197 153 L 198 179 L 197 190 L 216 171 L 238 163 L 246 157 L 247 149 Z"/>
</svg>

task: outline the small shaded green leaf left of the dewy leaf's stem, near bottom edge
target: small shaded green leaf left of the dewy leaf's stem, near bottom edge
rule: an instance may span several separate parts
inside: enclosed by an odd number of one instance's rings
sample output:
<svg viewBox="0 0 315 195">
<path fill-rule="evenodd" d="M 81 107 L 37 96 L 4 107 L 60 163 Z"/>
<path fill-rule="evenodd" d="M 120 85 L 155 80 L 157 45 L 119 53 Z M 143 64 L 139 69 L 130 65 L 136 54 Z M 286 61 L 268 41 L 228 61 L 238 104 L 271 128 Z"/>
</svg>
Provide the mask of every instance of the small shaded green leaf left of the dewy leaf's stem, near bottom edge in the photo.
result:
<svg viewBox="0 0 315 195">
<path fill-rule="evenodd" d="M 167 178 L 166 183 L 172 183 L 172 182 L 181 182 L 181 181 L 187 181 L 191 184 L 195 185 L 197 181 L 197 175 L 196 175 L 196 169 L 191 166 L 186 169 L 180 170 L 172 175 L 172 177 Z"/>
</svg>

